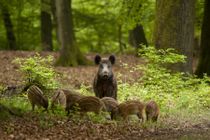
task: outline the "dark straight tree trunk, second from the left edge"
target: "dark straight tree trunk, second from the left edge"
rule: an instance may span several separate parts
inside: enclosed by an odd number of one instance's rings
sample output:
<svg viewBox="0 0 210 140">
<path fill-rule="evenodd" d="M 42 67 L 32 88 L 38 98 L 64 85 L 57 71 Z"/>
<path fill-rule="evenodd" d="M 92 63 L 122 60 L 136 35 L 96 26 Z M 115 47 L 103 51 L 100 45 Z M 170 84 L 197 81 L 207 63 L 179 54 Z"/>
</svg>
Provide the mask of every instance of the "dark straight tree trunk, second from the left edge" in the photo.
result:
<svg viewBox="0 0 210 140">
<path fill-rule="evenodd" d="M 41 44 L 44 51 L 52 51 L 52 20 L 50 0 L 41 0 Z"/>
</svg>

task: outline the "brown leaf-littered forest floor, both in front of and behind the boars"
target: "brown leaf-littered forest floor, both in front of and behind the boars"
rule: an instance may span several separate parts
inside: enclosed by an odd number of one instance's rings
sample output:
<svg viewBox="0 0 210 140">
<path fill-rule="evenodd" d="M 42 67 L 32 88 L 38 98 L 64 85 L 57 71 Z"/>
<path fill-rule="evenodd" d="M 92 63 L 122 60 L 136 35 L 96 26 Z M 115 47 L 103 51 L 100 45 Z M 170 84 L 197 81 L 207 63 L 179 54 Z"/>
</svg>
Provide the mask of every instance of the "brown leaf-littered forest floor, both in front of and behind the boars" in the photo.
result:
<svg viewBox="0 0 210 140">
<path fill-rule="evenodd" d="M 18 66 L 12 61 L 16 57 L 25 58 L 34 55 L 35 52 L 24 51 L 0 51 L 0 85 L 17 86 L 21 85 L 23 78 L 18 72 Z M 42 56 L 56 53 L 41 52 Z M 87 55 L 87 58 L 94 59 L 95 54 Z M 107 56 L 107 55 L 104 55 Z M 131 67 L 142 64 L 143 60 L 132 55 L 117 55 L 117 62 L 114 66 L 116 76 L 122 82 L 135 82 L 141 76 L 141 72 L 132 72 Z M 92 90 L 92 81 L 97 66 L 78 67 L 56 67 L 64 77 L 60 79 L 65 88 L 73 87 L 79 89 L 85 85 Z M 97 123 L 88 120 L 74 121 L 66 117 L 58 117 L 47 113 L 28 112 L 22 117 L 11 117 L 0 120 L 0 139 L 209 139 L 210 122 L 203 120 L 199 123 L 184 122 L 177 124 L 173 120 L 165 120 L 164 126 L 146 127 L 139 123 L 103 122 Z"/>
</svg>

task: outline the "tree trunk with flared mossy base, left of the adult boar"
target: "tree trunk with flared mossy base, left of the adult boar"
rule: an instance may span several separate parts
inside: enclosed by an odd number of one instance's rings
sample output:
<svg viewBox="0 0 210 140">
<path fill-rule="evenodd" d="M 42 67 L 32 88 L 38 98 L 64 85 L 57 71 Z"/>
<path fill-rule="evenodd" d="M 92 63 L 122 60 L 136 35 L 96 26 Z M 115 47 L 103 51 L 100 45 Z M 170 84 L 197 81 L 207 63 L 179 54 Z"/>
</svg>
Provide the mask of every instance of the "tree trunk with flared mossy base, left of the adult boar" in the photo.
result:
<svg viewBox="0 0 210 140">
<path fill-rule="evenodd" d="M 57 65 L 76 66 L 86 64 L 86 59 L 76 46 L 73 31 L 71 0 L 56 0 L 57 23 L 61 43 Z"/>
</svg>

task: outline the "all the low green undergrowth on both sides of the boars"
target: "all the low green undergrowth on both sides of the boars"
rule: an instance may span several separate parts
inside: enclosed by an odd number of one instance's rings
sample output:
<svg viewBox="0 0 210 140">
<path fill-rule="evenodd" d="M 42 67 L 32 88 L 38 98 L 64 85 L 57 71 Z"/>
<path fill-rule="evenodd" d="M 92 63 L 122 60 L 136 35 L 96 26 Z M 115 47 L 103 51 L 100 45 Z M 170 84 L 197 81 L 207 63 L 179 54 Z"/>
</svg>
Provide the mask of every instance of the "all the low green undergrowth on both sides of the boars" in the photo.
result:
<svg viewBox="0 0 210 140">
<path fill-rule="evenodd" d="M 185 56 L 179 55 L 174 49 L 156 50 L 154 47 L 143 47 L 139 52 L 144 58 L 143 64 L 138 64 L 133 68 L 126 64 L 128 71 L 143 72 L 137 82 L 122 82 L 123 75 L 117 74 L 118 79 L 118 101 L 119 103 L 130 99 L 138 99 L 143 102 L 155 100 L 160 106 L 160 120 L 157 126 L 162 127 L 164 123 L 170 120 L 170 123 L 176 122 L 182 124 L 185 122 L 199 122 L 207 119 L 207 113 L 210 107 L 210 79 L 204 76 L 203 79 L 195 75 L 172 72 L 168 65 L 175 63 L 184 63 Z M 37 82 L 46 88 L 57 88 L 58 83 L 54 79 L 56 73 L 52 67 L 45 69 L 40 64 L 52 62 L 51 58 L 43 59 L 35 56 L 26 60 L 16 60 L 20 64 L 20 70 L 25 73 L 26 82 Z M 40 64 L 37 62 L 41 61 Z M 35 67 L 37 69 L 33 70 Z M 45 65 L 46 66 L 46 65 Z M 28 80 L 27 80 L 28 79 Z M 89 87 L 82 86 L 79 90 L 84 95 L 93 96 L 94 94 L 87 90 Z M 8 105 L 18 106 L 23 110 L 30 110 L 29 102 L 25 96 L 15 97 L 9 102 L 1 100 Z M 64 109 L 56 109 L 56 115 L 64 116 Z M 104 122 L 101 116 L 89 114 L 94 122 Z M 78 119 L 76 119 L 78 120 Z M 164 123 L 162 123 L 164 122 Z M 144 124 L 151 126 L 151 124 Z"/>
</svg>

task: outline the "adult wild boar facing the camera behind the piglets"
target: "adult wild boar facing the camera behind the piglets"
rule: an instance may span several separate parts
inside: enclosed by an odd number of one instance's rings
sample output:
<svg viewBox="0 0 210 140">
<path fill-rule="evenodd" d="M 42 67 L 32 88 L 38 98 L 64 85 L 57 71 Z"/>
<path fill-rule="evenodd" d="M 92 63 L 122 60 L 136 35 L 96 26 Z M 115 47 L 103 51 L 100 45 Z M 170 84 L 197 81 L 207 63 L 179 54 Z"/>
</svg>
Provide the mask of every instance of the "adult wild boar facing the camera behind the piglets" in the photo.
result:
<svg viewBox="0 0 210 140">
<path fill-rule="evenodd" d="M 96 97 L 112 97 L 117 100 L 117 81 L 112 72 L 112 65 L 115 63 L 115 56 L 101 58 L 95 56 L 95 64 L 98 65 L 98 72 L 94 78 L 93 89 Z"/>
</svg>

